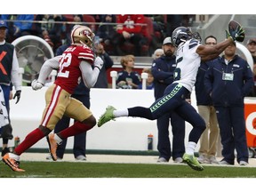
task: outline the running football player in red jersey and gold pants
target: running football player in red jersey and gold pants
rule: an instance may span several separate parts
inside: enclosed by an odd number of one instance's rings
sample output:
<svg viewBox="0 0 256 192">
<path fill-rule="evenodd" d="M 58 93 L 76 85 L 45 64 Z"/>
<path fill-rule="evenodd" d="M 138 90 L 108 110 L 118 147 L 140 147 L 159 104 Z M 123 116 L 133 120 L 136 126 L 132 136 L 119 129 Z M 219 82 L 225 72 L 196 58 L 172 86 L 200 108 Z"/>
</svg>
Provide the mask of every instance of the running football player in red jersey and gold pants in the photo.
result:
<svg viewBox="0 0 256 192">
<path fill-rule="evenodd" d="M 91 28 L 77 25 L 71 31 L 72 43 L 68 49 L 61 56 L 44 62 L 38 79 L 32 82 L 33 90 L 39 90 L 44 86 L 45 79 L 51 74 L 52 69 L 59 69 L 59 72 L 54 84 L 45 92 L 46 106 L 40 125 L 28 133 L 25 140 L 14 148 L 13 153 L 3 156 L 4 163 L 12 171 L 25 172 L 20 169 L 20 155 L 45 136 L 52 159 L 56 161 L 56 149 L 61 140 L 87 132 L 96 124 L 92 111 L 79 100 L 70 97 L 81 77 L 84 84 L 92 88 L 103 66 L 100 57 L 94 58 L 93 37 Z M 92 65 L 94 65 L 93 69 Z M 76 119 L 76 123 L 61 132 L 49 134 L 63 115 Z"/>
</svg>

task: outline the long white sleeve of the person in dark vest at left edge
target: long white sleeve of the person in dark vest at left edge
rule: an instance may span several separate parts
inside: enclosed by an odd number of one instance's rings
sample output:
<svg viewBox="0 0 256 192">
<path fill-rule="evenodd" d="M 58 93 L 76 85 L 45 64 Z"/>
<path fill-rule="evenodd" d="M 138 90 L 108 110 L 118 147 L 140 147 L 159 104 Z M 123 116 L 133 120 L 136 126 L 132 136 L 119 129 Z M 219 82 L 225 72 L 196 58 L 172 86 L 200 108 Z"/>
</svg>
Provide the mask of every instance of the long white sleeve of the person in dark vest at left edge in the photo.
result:
<svg viewBox="0 0 256 192">
<path fill-rule="evenodd" d="M 17 59 L 17 55 L 15 52 L 15 49 L 13 51 L 13 56 L 12 56 L 12 73 L 11 73 L 11 81 L 12 84 L 15 87 L 16 91 L 21 90 L 21 81 L 20 81 L 20 76 L 19 76 L 19 62 Z"/>
</svg>

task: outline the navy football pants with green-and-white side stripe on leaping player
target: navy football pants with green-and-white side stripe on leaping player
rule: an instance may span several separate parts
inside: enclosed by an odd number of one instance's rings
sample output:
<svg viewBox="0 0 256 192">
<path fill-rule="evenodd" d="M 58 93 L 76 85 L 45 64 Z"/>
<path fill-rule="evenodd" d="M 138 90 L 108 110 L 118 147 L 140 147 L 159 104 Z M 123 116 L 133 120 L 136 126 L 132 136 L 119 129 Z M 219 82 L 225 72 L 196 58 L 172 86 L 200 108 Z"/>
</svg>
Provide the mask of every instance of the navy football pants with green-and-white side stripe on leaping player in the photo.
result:
<svg viewBox="0 0 256 192">
<path fill-rule="evenodd" d="M 129 116 L 138 116 L 155 120 L 164 114 L 175 111 L 181 118 L 193 126 L 188 135 L 188 141 L 198 142 L 205 130 L 204 119 L 196 112 L 185 98 L 188 90 L 180 84 L 170 84 L 164 91 L 164 96 L 156 100 L 149 108 L 128 108 Z"/>
</svg>

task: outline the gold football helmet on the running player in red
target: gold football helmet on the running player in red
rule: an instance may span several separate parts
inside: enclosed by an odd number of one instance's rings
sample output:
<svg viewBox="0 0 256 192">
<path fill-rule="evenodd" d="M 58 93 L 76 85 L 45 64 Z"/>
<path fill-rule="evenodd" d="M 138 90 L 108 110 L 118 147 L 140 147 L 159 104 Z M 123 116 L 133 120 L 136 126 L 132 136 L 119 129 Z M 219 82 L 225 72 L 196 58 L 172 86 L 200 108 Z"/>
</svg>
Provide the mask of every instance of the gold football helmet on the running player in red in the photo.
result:
<svg viewBox="0 0 256 192">
<path fill-rule="evenodd" d="M 92 48 L 94 33 L 91 28 L 76 25 L 71 31 L 71 44 L 86 44 Z"/>
</svg>

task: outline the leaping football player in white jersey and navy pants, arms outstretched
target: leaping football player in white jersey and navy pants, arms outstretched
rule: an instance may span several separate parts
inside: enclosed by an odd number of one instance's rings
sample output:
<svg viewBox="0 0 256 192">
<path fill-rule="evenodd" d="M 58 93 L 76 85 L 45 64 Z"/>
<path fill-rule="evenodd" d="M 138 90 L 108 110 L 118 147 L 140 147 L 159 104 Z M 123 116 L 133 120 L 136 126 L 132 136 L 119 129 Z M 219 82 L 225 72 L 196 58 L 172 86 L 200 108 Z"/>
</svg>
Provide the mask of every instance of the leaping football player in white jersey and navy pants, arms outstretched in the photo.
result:
<svg viewBox="0 0 256 192">
<path fill-rule="evenodd" d="M 204 119 L 196 112 L 196 109 L 186 100 L 186 95 L 192 91 L 196 83 L 196 74 L 201 60 L 212 60 L 217 58 L 221 52 L 232 44 L 235 37 L 228 38 L 214 46 L 204 46 L 200 44 L 201 37 L 198 33 L 192 33 L 190 28 L 179 27 L 172 32 L 172 44 L 177 47 L 176 62 L 174 71 L 174 82 L 168 85 L 164 91 L 164 96 L 156 100 L 149 108 L 134 107 L 123 110 L 116 110 L 112 106 L 106 108 L 105 113 L 100 116 L 98 126 L 120 116 L 138 116 L 155 120 L 165 113 L 175 111 L 185 121 L 193 126 L 188 136 L 188 146 L 183 155 L 183 161 L 192 169 L 203 171 L 204 167 L 199 164 L 194 156 L 197 141 L 204 132 Z"/>
</svg>

